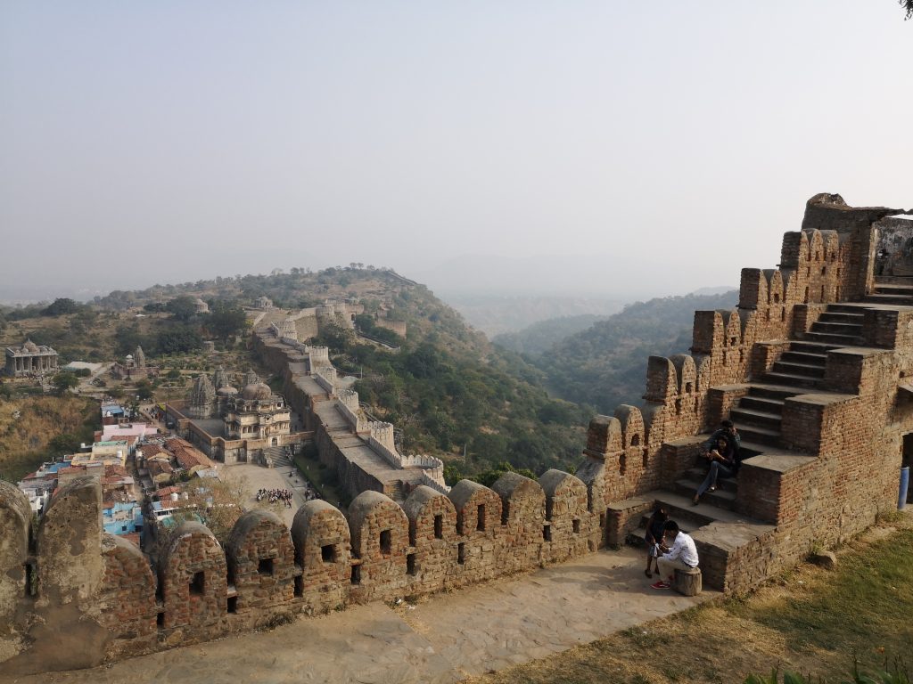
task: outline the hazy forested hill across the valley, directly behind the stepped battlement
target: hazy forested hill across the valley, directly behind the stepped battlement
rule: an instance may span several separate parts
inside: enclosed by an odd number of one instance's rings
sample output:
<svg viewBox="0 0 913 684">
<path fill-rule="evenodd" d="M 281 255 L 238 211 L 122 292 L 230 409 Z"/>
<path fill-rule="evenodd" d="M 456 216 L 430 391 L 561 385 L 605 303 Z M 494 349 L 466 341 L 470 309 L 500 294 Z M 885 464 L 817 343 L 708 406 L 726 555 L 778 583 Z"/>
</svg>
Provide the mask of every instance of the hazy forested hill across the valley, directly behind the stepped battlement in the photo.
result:
<svg viewBox="0 0 913 684">
<path fill-rule="evenodd" d="M 525 358 L 545 373 L 557 396 L 610 413 L 621 403 L 641 403 L 648 357 L 687 352 L 695 311 L 732 308 L 738 300 L 738 290 L 729 290 L 638 302 Z"/>
</svg>

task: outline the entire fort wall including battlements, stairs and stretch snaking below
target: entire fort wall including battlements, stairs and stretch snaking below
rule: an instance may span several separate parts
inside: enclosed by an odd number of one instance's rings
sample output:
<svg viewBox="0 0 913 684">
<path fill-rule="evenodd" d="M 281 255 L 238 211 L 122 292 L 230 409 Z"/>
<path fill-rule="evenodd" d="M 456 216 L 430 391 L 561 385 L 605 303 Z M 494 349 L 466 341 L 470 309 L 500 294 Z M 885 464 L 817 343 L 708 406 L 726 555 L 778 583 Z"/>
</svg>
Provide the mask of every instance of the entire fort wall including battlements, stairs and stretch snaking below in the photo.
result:
<svg viewBox="0 0 913 684">
<path fill-rule="evenodd" d="M 0 482 L 4 670 L 85 667 L 559 563 L 622 543 L 657 502 L 687 523 L 705 585 L 725 591 L 845 540 L 896 505 L 899 466 L 913 461 L 913 283 L 884 276 L 905 260 L 913 274 L 913 254 L 884 246 L 908 249 L 895 213 L 810 200 L 780 268 L 743 270 L 737 310 L 697 312 L 690 354 L 650 358 L 641 408 L 593 419 L 577 476 L 441 491 L 436 461 L 398 454 L 393 426 L 366 420 L 356 393 L 333 394 L 337 378 L 315 377 L 331 368 L 320 348 L 258 332 L 320 459 L 362 492 L 348 516 L 314 501 L 289 530 L 248 512 L 224 548 L 184 523 L 151 567 L 104 534 L 97 483 L 63 488 L 33 529 L 25 495 Z M 725 418 L 749 458 L 717 507 L 692 509 L 682 478 Z"/>
</svg>

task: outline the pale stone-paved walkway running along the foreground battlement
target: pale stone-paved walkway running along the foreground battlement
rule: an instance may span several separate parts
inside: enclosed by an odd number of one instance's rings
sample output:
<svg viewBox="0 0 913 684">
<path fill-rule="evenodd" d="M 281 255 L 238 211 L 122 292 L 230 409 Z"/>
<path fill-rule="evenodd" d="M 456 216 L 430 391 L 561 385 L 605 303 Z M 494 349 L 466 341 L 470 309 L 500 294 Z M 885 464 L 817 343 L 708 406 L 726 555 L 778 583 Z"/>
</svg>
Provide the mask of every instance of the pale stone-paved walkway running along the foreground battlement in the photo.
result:
<svg viewBox="0 0 913 684">
<path fill-rule="evenodd" d="M 529 575 L 430 596 L 418 606 L 354 606 L 270 632 L 17 681 L 444 684 L 544 658 L 719 596 L 687 598 L 651 589 L 644 560 L 628 548 L 589 554 Z M 0 681 L 8 680 L 0 675 Z"/>
</svg>

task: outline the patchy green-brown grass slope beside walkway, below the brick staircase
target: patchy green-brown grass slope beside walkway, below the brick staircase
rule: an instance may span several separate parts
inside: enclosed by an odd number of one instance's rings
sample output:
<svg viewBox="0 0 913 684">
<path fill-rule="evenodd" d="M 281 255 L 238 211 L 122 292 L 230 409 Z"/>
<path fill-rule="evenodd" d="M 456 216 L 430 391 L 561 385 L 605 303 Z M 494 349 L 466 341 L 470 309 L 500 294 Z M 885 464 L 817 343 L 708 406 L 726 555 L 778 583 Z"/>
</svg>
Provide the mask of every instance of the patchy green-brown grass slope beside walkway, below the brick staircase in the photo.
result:
<svg viewBox="0 0 913 684">
<path fill-rule="evenodd" d="M 510 682 L 742 682 L 771 668 L 845 679 L 913 663 L 913 515 L 849 544 L 833 571 L 803 565 L 751 596 L 698 606 L 552 658 L 473 679 Z"/>
</svg>

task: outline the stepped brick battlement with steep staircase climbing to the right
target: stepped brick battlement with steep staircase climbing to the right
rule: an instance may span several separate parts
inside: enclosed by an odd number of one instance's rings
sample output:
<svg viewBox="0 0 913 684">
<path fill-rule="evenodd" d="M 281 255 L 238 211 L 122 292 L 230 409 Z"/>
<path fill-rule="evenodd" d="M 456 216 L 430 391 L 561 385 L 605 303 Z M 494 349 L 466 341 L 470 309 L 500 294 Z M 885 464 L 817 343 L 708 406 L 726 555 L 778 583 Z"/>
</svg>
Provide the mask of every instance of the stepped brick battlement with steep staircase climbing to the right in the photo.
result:
<svg viewBox="0 0 913 684">
<path fill-rule="evenodd" d="M 729 498 L 713 496 L 737 517 L 698 516 L 708 521 L 698 548 L 713 559 L 705 584 L 752 586 L 801 558 L 813 536 L 842 541 L 896 503 L 901 436 L 913 433 L 898 403 L 913 371 L 913 336 L 902 332 L 913 283 L 897 277 L 913 275 L 913 224 L 886 218 L 899 213 L 813 197 L 803 230 L 783 236 L 778 268 L 743 269 L 736 309 L 695 313 L 690 355 L 649 358 L 642 408 L 593 419 L 584 454 L 604 472 L 610 542 L 639 523 L 645 499 L 691 497 L 704 477 L 699 445 L 722 419 L 736 423 L 746 460 Z"/>
</svg>

